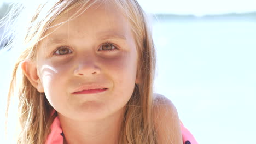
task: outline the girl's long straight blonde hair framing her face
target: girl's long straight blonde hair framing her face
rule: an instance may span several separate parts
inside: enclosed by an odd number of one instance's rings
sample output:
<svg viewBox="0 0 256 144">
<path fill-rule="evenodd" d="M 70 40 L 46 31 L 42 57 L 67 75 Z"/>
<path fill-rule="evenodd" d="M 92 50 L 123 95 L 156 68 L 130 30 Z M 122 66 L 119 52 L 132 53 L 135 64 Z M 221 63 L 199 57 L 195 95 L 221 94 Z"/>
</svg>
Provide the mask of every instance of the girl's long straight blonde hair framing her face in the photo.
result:
<svg viewBox="0 0 256 144">
<path fill-rule="evenodd" d="M 119 143 L 157 143 L 152 110 L 155 50 L 146 14 L 136 0 L 108 1 L 120 8 L 129 20 L 138 51 L 137 77 L 139 77 L 139 83 L 136 83 L 131 99 L 126 105 Z M 34 15 L 28 19 L 28 23 L 25 23 L 24 32 L 19 34 L 22 46 L 19 41 L 13 41 L 13 45 L 9 45 L 12 47 L 11 49 L 17 49 L 16 45 L 19 44 L 19 49 L 24 49 L 15 64 L 8 94 L 8 107 L 12 97 L 19 99 L 18 113 L 21 130 L 18 143 L 44 143 L 50 133 L 49 127 L 57 116 L 56 113 L 51 115 L 53 107 L 44 93 L 39 93 L 23 73 L 18 73 L 21 62 L 26 59 L 35 61 L 37 45 L 46 37 L 44 35 L 46 29 L 58 17 L 66 13 L 65 11 L 82 5 L 80 11 L 83 12 L 96 2 L 100 1 L 42 1 L 38 7 L 34 7 L 36 13 L 33 13 Z M 14 5 L 13 15 L 9 15 L 14 16 L 15 20 L 22 16 L 20 11 L 27 13 L 26 7 L 22 6 L 21 9 L 17 7 L 20 5 Z M 28 16 L 26 15 L 26 17 Z M 21 80 L 19 86 L 15 84 L 18 78 Z M 9 113 L 7 109 L 7 114 Z"/>
</svg>

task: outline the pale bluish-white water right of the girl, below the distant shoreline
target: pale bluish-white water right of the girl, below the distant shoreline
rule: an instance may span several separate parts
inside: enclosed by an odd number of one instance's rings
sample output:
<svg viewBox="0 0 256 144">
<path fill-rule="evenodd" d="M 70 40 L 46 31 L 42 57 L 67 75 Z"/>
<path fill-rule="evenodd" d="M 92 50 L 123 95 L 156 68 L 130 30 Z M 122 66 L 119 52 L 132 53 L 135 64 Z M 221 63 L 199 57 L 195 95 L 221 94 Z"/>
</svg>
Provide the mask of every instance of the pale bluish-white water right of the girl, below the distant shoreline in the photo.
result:
<svg viewBox="0 0 256 144">
<path fill-rule="evenodd" d="M 155 91 L 199 143 L 251 143 L 256 129 L 255 16 L 154 23 Z"/>
</svg>

